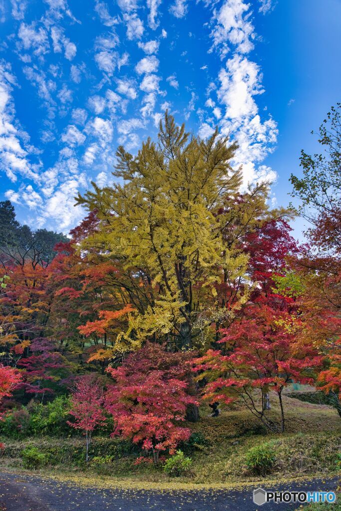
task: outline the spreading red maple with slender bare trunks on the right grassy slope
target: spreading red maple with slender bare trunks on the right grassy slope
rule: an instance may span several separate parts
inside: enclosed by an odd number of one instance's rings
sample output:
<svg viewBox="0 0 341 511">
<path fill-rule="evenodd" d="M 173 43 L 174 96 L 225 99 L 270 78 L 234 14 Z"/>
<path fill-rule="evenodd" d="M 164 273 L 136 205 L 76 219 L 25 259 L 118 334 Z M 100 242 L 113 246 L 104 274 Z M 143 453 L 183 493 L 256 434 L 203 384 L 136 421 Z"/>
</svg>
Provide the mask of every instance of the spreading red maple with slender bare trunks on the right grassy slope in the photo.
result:
<svg viewBox="0 0 341 511">
<path fill-rule="evenodd" d="M 209 381 L 205 399 L 225 404 L 241 400 L 271 431 L 284 431 L 283 388 L 292 381 L 312 384 L 314 369 L 323 360 L 310 343 L 300 342 L 302 326 L 299 318 L 288 312 L 290 300 L 262 295 L 222 330 L 222 350 L 209 350 L 194 360 L 198 379 Z M 266 414 L 265 397 L 270 389 L 279 398 L 280 428 Z"/>
</svg>

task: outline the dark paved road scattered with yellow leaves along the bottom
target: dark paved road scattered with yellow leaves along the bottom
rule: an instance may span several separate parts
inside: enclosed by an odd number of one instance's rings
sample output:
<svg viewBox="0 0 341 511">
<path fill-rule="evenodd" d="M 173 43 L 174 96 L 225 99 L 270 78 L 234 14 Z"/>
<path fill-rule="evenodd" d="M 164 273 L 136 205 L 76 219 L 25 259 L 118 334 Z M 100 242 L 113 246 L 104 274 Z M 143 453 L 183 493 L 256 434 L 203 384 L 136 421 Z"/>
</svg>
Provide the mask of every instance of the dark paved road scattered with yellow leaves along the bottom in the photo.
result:
<svg viewBox="0 0 341 511">
<path fill-rule="evenodd" d="M 276 490 L 334 490 L 337 479 L 287 484 Z M 271 490 L 265 487 L 266 490 Z M 257 511 L 252 489 L 160 492 L 105 490 L 50 478 L 0 472 L 1 511 Z M 261 511 L 288 511 L 296 504 L 264 504 Z"/>
</svg>

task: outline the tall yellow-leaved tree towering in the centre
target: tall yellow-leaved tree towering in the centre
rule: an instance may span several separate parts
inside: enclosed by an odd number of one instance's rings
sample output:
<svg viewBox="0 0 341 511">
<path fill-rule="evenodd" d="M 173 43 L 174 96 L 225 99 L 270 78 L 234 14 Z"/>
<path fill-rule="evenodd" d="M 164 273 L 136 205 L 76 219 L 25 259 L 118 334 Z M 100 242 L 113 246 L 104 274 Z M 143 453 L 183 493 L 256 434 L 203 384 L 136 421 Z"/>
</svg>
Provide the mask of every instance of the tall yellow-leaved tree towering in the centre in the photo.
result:
<svg viewBox="0 0 341 511">
<path fill-rule="evenodd" d="M 78 196 L 99 219 L 82 249 L 117 264 L 122 307 L 134 308 L 121 349 L 152 338 L 177 349 L 205 343 L 212 323 L 247 301 L 245 237 L 285 213 L 268 211 L 266 184 L 240 194 L 236 149 L 218 131 L 189 136 L 166 112 L 157 144 L 147 140 L 135 157 L 119 147 L 119 183 Z"/>
</svg>

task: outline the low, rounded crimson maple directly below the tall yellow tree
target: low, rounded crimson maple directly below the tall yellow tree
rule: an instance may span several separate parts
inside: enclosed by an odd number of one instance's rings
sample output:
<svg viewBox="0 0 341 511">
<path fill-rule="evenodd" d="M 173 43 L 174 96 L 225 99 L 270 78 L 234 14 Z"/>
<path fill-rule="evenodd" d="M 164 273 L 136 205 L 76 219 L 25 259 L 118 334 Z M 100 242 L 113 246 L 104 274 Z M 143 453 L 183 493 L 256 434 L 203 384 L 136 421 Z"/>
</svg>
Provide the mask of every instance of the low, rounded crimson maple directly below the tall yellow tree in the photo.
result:
<svg viewBox="0 0 341 511">
<path fill-rule="evenodd" d="M 189 358 L 147 343 L 117 369 L 107 369 L 115 380 L 106 394 L 106 408 L 116 423 L 113 434 L 152 451 L 154 463 L 161 451 L 174 453 L 179 442 L 190 436 L 189 428 L 180 426 L 187 406 L 197 404 L 188 393 Z"/>
</svg>

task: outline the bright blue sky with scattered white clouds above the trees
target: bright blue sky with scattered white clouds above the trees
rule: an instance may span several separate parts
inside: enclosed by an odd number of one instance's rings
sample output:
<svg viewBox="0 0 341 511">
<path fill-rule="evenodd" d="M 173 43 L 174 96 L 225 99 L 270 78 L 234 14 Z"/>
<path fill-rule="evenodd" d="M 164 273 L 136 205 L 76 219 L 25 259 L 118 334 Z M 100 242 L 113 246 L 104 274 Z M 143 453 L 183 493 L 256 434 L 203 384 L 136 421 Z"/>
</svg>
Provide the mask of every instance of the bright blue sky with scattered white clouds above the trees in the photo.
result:
<svg viewBox="0 0 341 511">
<path fill-rule="evenodd" d="M 76 193 L 110 183 L 117 146 L 137 151 L 169 108 L 231 132 L 245 184 L 271 179 L 287 205 L 341 99 L 340 20 L 340 0 L 0 0 L 0 200 L 67 233 Z"/>
</svg>

